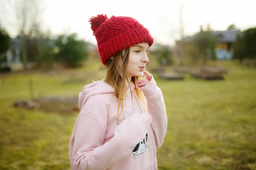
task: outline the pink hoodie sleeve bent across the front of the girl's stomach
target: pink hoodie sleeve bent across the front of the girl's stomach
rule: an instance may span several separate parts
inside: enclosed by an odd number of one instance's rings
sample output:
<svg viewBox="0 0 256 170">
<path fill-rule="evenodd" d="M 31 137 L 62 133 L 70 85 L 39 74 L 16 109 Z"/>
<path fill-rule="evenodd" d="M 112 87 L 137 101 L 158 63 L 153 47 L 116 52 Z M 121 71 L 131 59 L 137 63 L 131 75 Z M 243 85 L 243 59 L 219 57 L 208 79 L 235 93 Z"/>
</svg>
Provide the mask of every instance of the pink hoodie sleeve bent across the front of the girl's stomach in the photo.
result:
<svg viewBox="0 0 256 170">
<path fill-rule="evenodd" d="M 118 125 L 113 138 L 104 143 L 107 110 L 96 107 L 95 103 L 99 101 L 87 101 L 76 120 L 70 139 L 72 170 L 105 170 L 112 167 L 144 139 L 152 122 L 148 113 L 133 115 Z"/>
</svg>

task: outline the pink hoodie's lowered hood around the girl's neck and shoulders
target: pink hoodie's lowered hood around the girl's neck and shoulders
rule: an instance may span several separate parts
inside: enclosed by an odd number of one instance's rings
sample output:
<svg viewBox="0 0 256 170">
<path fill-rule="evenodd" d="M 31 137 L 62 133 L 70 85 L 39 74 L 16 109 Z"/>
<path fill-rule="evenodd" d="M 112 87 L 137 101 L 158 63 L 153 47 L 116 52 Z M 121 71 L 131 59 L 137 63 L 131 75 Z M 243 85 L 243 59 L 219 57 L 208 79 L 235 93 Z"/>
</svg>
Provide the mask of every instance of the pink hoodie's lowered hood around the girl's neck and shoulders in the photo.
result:
<svg viewBox="0 0 256 170">
<path fill-rule="evenodd" d="M 129 94 L 134 89 L 134 83 L 130 82 L 131 90 L 130 88 L 127 89 L 126 93 Z M 83 105 L 87 102 L 87 100 L 90 98 L 90 96 L 96 95 L 96 94 L 114 94 L 114 88 L 102 81 L 96 81 L 89 85 L 84 86 L 83 91 L 79 93 L 79 100 L 78 100 L 78 106 L 81 110 Z"/>
</svg>

